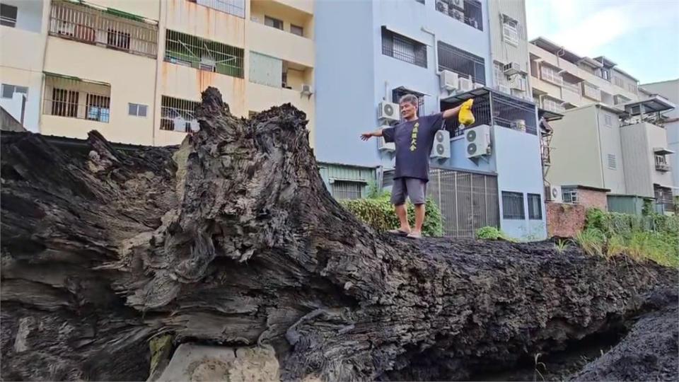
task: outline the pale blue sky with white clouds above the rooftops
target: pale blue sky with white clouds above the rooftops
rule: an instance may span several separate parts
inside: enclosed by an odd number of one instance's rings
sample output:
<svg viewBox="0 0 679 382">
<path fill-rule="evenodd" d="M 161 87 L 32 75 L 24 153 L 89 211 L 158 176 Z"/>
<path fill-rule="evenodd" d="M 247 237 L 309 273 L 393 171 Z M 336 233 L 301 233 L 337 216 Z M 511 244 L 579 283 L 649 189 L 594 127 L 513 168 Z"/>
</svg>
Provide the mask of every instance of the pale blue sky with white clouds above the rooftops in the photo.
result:
<svg viewBox="0 0 679 382">
<path fill-rule="evenodd" d="M 640 83 L 679 78 L 679 0 L 526 0 L 526 16 L 528 40 L 603 55 Z"/>
</svg>

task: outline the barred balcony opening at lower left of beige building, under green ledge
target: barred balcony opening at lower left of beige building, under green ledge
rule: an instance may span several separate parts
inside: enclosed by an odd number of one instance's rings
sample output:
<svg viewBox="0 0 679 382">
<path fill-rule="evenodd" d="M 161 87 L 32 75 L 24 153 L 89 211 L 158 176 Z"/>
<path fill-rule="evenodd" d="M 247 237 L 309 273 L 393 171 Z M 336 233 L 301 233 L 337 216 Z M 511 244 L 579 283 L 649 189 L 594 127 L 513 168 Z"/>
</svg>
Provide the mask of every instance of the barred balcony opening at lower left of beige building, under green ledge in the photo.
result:
<svg viewBox="0 0 679 382">
<path fill-rule="evenodd" d="M 110 86 L 104 84 L 46 74 L 42 112 L 108 123 L 110 94 Z"/>
</svg>

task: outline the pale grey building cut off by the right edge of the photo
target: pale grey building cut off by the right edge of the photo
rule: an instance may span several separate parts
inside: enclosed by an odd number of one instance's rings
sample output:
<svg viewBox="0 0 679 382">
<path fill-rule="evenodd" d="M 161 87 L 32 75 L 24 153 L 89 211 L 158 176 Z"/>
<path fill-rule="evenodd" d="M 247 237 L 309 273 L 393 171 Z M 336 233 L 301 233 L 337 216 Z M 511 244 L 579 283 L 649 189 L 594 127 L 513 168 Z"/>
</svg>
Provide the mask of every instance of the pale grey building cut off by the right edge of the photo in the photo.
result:
<svg viewBox="0 0 679 382">
<path fill-rule="evenodd" d="M 649 96 L 661 94 L 671 103 L 679 105 L 679 79 L 646 83 L 642 85 L 641 91 Z M 672 154 L 667 155 L 666 163 L 658 164 L 666 164 L 671 169 L 673 195 L 679 196 L 679 110 L 674 109 L 664 115 L 666 119 L 663 121 L 663 126 L 667 135 L 667 147 Z"/>
</svg>

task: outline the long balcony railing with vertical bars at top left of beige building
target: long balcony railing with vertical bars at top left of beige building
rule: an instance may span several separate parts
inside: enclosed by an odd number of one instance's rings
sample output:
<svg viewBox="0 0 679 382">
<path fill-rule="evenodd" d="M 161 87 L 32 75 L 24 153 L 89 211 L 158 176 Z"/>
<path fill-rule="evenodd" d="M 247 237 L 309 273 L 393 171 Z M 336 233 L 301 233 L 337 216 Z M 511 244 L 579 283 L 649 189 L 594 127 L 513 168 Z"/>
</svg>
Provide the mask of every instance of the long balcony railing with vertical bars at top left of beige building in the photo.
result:
<svg viewBox="0 0 679 382">
<path fill-rule="evenodd" d="M 123 16 L 117 16 L 120 15 Z M 56 1 L 50 10 L 50 35 L 156 57 L 158 25 L 134 15 Z"/>
</svg>

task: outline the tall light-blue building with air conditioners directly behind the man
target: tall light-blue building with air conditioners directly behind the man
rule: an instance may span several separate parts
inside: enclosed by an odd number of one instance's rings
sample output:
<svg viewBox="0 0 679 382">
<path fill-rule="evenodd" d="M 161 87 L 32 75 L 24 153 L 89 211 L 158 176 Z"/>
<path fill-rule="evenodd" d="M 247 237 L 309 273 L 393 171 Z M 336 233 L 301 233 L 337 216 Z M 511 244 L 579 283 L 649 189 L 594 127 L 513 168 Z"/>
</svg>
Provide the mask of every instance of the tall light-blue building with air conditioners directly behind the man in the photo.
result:
<svg viewBox="0 0 679 382">
<path fill-rule="evenodd" d="M 511 236 L 544 238 L 525 19 L 523 1 L 318 2 L 316 155 L 328 190 L 345 198 L 364 196 L 373 183 L 390 187 L 393 146 L 359 135 L 396 124 L 402 95 L 418 96 L 420 115 L 475 98 L 475 125 L 461 130 L 457 120 L 446 121 L 434 147 L 441 152 L 432 153 L 428 193 L 446 234 L 499 226 Z"/>
</svg>

